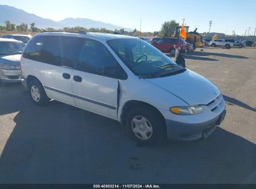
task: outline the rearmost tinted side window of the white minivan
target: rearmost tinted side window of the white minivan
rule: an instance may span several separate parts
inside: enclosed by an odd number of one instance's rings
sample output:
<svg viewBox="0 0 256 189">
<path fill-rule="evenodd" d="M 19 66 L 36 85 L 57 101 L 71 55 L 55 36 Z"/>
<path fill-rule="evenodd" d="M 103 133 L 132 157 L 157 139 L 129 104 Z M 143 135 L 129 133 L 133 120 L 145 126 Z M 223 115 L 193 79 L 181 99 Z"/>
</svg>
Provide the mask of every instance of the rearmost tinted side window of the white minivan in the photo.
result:
<svg viewBox="0 0 256 189">
<path fill-rule="evenodd" d="M 44 45 L 44 43 L 45 43 L 44 36 L 33 37 L 29 42 L 29 44 L 27 44 L 23 52 L 23 57 L 30 60 L 40 61 L 39 57 L 40 57 L 42 46 Z"/>
</svg>

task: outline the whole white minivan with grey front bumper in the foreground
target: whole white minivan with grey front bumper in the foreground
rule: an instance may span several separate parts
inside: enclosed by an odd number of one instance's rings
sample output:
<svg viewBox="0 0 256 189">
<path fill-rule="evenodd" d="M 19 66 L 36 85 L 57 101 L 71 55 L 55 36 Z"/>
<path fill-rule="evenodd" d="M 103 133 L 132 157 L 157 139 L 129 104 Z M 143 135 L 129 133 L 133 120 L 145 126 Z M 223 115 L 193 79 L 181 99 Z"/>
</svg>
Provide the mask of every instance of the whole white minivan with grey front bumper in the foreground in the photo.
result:
<svg viewBox="0 0 256 189">
<path fill-rule="evenodd" d="M 44 32 L 21 58 L 32 101 L 50 99 L 121 122 L 136 140 L 153 144 L 209 136 L 225 117 L 218 88 L 135 37 Z"/>
</svg>

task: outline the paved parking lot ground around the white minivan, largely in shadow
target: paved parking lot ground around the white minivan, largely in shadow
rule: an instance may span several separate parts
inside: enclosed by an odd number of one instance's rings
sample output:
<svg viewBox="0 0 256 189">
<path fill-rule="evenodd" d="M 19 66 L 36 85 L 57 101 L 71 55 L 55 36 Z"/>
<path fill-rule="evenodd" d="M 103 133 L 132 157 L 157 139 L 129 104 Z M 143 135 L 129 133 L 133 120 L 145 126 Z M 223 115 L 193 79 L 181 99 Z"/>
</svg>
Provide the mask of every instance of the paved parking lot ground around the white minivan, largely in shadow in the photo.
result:
<svg viewBox="0 0 256 189">
<path fill-rule="evenodd" d="M 203 141 L 136 145 L 120 124 L 0 87 L 0 183 L 256 183 L 256 49 L 203 48 L 187 68 L 217 85 L 221 127 Z"/>
</svg>

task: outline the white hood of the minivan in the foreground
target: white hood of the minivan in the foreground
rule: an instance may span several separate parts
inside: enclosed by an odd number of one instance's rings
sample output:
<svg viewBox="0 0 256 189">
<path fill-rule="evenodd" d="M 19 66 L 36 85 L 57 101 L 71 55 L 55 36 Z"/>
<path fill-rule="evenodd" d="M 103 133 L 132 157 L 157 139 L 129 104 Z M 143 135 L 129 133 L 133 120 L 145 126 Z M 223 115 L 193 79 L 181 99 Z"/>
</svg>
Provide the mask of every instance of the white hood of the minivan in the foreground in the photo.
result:
<svg viewBox="0 0 256 189">
<path fill-rule="evenodd" d="M 146 81 L 178 96 L 189 105 L 208 104 L 220 94 L 219 89 L 211 81 L 191 70 Z"/>
</svg>

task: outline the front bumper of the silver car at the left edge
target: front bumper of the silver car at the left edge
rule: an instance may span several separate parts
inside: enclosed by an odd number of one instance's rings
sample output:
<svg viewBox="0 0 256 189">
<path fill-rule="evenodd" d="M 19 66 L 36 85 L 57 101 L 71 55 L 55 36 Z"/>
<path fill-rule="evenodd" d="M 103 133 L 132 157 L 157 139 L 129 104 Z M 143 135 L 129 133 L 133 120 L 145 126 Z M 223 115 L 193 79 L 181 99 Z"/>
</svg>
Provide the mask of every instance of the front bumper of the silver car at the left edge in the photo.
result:
<svg viewBox="0 0 256 189">
<path fill-rule="evenodd" d="M 16 83 L 21 81 L 21 70 L 0 69 L 0 79 L 6 83 Z"/>
</svg>

